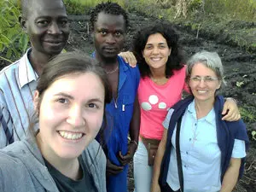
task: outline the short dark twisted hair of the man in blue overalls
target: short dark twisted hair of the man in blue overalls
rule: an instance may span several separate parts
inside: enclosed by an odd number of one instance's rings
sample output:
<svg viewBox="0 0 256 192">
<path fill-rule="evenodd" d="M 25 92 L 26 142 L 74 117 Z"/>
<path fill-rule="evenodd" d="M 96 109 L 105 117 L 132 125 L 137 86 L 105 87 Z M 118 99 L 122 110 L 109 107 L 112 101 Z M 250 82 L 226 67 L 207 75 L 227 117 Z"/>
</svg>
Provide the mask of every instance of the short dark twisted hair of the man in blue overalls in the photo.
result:
<svg viewBox="0 0 256 192">
<path fill-rule="evenodd" d="M 123 15 L 125 20 L 125 29 L 129 26 L 129 20 L 128 15 L 125 12 L 125 9 L 122 9 L 121 6 L 119 6 L 118 3 L 100 3 L 97 4 L 94 9 L 90 11 L 90 30 L 94 30 L 94 24 L 97 21 L 98 15 L 104 12 L 105 14 L 111 14 L 111 15 Z"/>
</svg>

